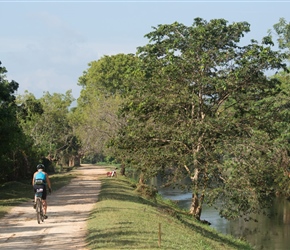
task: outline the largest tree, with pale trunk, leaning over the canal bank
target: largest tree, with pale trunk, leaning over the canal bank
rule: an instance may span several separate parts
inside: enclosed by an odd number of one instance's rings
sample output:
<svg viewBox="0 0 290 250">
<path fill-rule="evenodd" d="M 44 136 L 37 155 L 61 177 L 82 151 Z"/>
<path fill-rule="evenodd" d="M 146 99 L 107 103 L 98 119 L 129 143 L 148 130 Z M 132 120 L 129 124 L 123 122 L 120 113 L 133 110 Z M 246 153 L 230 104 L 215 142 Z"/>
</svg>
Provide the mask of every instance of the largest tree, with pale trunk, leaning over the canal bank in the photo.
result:
<svg viewBox="0 0 290 250">
<path fill-rule="evenodd" d="M 114 145 L 142 178 L 190 180 L 184 188 L 197 219 L 204 202 L 217 200 L 226 218 L 259 212 L 279 186 L 282 171 L 269 164 L 274 119 L 262 111 L 265 98 L 279 92 L 265 72 L 286 69 L 285 54 L 271 49 L 270 37 L 239 46 L 249 31 L 247 22 L 196 18 L 189 27 L 159 25 L 138 48 L 145 78 L 128 93 L 128 122 Z"/>
</svg>

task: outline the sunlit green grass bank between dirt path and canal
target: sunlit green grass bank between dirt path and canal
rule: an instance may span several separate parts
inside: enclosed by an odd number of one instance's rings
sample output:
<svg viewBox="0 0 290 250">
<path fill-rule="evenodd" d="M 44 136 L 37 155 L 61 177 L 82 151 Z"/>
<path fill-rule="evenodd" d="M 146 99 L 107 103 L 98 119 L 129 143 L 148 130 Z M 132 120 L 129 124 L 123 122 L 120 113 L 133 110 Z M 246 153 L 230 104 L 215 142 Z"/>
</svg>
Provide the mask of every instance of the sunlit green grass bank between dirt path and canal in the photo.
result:
<svg viewBox="0 0 290 250">
<path fill-rule="evenodd" d="M 253 249 L 194 220 L 168 200 L 142 198 L 124 177 L 101 181 L 99 201 L 88 220 L 90 249 Z"/>
</svg>

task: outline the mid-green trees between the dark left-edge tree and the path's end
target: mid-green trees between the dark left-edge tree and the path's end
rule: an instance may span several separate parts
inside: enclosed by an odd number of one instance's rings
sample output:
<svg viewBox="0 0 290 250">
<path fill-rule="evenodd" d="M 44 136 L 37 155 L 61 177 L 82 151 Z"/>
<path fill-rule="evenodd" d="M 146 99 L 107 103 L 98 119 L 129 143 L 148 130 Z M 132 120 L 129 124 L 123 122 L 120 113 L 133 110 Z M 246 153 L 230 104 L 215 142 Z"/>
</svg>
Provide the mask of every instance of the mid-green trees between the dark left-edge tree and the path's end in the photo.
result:
<svg viewBox="0 0 290 250">
<path fill-rule="evenodd" d="M 18 119 L 25 134 L 32 138 L 39 155 L 61 165 L 69 165 L 78 155 L 78 143 L 70 126 L 73 101 L 71 91 L 46 92 L 40 99 L 28 92 L 18 97 Z"/>
</svg>

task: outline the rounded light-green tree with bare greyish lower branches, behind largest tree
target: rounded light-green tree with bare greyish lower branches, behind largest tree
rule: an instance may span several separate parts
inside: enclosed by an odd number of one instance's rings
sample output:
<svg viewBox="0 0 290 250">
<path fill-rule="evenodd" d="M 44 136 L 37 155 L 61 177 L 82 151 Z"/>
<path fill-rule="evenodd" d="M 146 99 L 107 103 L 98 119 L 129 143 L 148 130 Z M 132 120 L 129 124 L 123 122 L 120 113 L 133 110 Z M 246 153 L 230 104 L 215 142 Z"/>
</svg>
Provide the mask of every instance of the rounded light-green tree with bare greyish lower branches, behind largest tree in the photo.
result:
<svg viewBox="0 0 290 250">
<path fill-rule="evenodd" d="M 130 89 L 127 79 L 135 65 L 133 55 L 104 56 L 89 64 L 79 78 L 83 87 L 74 112 L 74 129 L 84 155 L 114 155 L 108 142 L 124 121 L 117 111 Z"/>
</svg>

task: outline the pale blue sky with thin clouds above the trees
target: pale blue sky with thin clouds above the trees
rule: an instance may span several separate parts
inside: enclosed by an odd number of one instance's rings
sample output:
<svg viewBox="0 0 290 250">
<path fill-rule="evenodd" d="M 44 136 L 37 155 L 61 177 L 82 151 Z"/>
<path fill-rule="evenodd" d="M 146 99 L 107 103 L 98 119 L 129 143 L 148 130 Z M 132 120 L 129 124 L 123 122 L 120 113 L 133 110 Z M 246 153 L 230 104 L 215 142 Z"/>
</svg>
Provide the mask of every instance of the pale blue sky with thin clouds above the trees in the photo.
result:
<svg viewBox="0 0 290 250">
<path fill-rule="evenodd" d="M 246 38 L 261 41 L 290 1 L 14 1 L 0 0 L 0 61 L 6 78 L 36 98 L 45 92 L 80 95 L 78 79 L 105 55 L 135 53 L 159 24 L 191 26 L 194 18 L 246 21 Z"/>
</svg>

